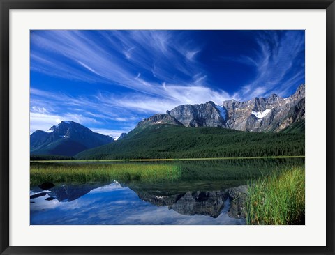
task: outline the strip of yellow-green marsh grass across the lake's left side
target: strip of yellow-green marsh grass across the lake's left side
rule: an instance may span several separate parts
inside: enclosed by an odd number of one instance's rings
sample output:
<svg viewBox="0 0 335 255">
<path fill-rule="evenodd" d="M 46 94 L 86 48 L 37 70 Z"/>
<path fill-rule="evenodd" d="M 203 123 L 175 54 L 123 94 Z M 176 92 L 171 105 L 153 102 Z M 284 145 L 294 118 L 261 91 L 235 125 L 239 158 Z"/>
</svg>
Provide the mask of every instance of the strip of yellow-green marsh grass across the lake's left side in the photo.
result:
<svg viewBox="0 0 335 255">
<path fill-rule="evenodd" d="M 160 182 L 178 180 L 181 170 L 174 164 L 52 164 L 31 163 L 30 184 L 87 183 L 109 180 Z"/>
</svg>

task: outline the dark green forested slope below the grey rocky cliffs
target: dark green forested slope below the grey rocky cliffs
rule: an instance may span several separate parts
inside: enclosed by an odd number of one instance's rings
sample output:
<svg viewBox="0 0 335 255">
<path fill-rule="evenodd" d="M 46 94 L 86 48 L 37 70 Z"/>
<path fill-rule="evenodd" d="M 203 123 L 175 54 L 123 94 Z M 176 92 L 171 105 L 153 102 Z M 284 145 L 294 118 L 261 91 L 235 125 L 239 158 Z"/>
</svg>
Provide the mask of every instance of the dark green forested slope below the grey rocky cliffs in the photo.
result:
<svg viewBox="0 0 335 255">
<path fill-rule="evenodd" d="M 304 155 L 304 134 L 256 133 L 220 127 L 156 124 L 124 139 L 84 150 L 77 159 L 148 159 Z"/>
</svg>

